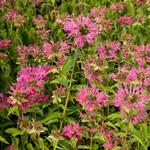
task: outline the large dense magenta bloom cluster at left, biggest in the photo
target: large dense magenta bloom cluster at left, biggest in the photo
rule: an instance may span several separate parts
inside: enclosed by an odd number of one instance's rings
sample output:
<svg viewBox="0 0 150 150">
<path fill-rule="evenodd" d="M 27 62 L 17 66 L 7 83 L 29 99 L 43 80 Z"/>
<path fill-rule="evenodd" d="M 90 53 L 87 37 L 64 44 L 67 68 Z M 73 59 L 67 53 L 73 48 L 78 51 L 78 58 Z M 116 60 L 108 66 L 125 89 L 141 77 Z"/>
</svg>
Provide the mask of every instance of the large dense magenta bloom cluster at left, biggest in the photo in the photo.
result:
<svg viewBox="0 0 150 150">
<path fill-rule="evenodd" d="M 18 75 L 17 83 L 11 87 L 8 102 L 20 105 L 25 109 L 30 104 L 48 101 L 48 96 L 44 93 L 44 84 L 49 66 L 25 67 Z"/>
</svg>

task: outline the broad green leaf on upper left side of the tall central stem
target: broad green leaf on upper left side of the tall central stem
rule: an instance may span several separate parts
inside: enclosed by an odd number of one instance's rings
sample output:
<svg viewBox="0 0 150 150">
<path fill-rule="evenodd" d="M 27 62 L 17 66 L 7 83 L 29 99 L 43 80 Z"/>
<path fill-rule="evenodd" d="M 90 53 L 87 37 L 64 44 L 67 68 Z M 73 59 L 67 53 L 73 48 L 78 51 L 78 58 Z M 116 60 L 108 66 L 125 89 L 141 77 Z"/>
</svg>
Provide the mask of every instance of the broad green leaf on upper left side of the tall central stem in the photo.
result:
<svg viewBox="0 0 150 150">
<path fill-rule="evenodd" d="M 66 76 L 67 73 L 70 71 L 70 69 L 73 67 L 73 65 L 74 65 L 74 60 L 72 57 L 69 57 L 62 68 L 61 75 Z"/>
</svg>

